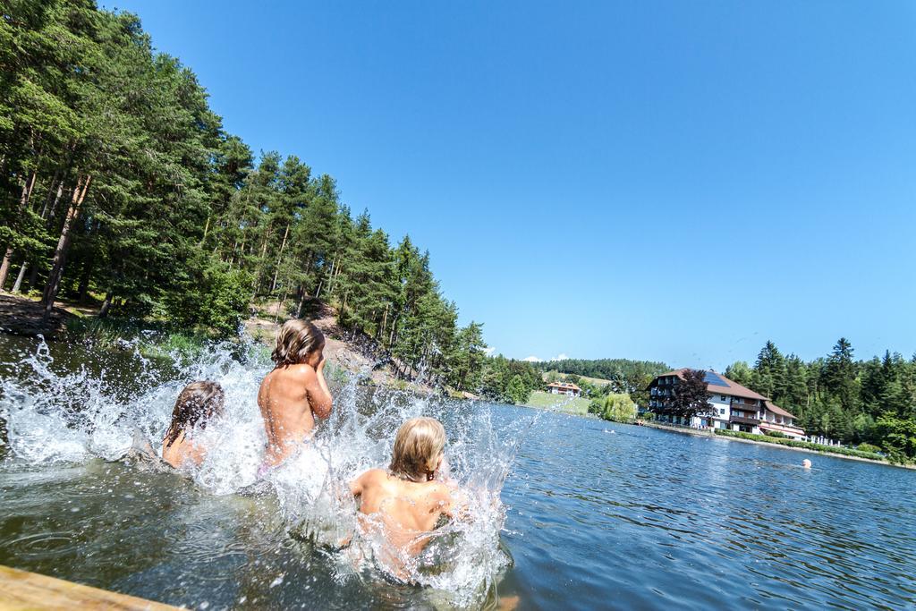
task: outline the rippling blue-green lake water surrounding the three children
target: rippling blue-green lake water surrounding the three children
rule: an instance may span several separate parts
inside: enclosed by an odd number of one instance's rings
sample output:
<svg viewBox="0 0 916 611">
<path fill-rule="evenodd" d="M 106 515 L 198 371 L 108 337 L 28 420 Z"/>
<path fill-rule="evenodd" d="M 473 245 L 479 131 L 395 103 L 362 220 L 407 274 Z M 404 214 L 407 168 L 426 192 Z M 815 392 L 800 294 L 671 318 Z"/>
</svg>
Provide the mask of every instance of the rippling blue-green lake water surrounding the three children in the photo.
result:
<svg viewBox="0 0 916 611">
<path fill-rule="evenodd" d="M 160 434 L 192 377 L 238 398 L 237 420 L 213 434 L 245 445 L 256 420 L 241 404 L 262 360 L 217 351 L 170 368 L 61 346 L 36 359 L 35 342 L 0 342 L 2 564 L 210 609 L 492 608 L 516 596 L 520 609 L 916 607 L 913 471 L 344 384 L 332 478 L 383 461 L 390 427 L 432 413 L 456 475 L 487 501 L 417 587 L 354 569 L 327 543 L 333 525 L 300 525 L 303 511 L 328 521 L 340 508 L 297 505 L 296 487 L 246 492 L 247 451 L 192 478 L 114 460 L 130 431 Z"/>
</svg>

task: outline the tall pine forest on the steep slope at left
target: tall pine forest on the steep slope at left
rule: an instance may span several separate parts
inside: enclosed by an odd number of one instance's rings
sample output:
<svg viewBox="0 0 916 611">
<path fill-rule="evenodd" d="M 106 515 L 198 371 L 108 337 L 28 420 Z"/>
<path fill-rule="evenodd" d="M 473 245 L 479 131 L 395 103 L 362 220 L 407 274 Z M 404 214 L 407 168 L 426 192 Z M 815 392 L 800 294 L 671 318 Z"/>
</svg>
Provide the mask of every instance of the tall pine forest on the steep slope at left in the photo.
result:
<svg viewBox="0 0 916 611">
<path fill-rule="evenodd" d="M 329 174 L 227 133 L 136 16 L 4 3 L 0 89 L 0 289 L 224 335 L 253 302 L 300 316 L 321 300 L 400 376 L 501 399 L 534 387 L 528 364 L 485 355 L 483 325 L 458 325 L 428 251 L 391 244 Z"/>
</svg>

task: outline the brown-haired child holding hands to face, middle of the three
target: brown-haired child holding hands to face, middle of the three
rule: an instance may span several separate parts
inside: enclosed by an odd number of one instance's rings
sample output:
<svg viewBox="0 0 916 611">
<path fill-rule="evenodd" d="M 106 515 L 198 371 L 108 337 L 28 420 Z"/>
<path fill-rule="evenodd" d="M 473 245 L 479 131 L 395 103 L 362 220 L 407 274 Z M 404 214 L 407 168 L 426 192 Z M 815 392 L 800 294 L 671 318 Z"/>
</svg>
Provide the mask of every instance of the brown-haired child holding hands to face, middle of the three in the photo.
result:
<svg viewBox="0 0 916 611">
<path fill-rule="evenodd" d="M 282 463 L 310 439 L 315 419 L 331 415 L 332 401 L 324 380 L 324 335 L 311 322 L 283 323 L 271 354 L 274 369 L 261 382 L 257 405 L 267 432 L 264 467 Z"/>
</svg>

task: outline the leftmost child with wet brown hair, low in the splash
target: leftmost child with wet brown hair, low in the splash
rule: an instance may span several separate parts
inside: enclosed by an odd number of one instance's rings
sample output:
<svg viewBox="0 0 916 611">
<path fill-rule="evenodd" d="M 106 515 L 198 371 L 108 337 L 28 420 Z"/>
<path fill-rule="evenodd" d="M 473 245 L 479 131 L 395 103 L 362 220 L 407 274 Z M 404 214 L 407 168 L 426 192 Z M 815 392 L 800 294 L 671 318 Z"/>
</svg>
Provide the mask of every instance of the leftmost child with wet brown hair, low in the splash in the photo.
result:
<svg viewBox="0 0 916 611">
<path fill-rule="evenodd" d="M 194 431 L 203 430 L 207 421 L 223 413 L 223 387 L 204 380 L 191 382 L 181 390 L 169 431 L 162 440 L 162 459 L 175 467 L 185 464 L 200 465 L 207 453 L 206 447 L 193 441 Z"/>
</svg>

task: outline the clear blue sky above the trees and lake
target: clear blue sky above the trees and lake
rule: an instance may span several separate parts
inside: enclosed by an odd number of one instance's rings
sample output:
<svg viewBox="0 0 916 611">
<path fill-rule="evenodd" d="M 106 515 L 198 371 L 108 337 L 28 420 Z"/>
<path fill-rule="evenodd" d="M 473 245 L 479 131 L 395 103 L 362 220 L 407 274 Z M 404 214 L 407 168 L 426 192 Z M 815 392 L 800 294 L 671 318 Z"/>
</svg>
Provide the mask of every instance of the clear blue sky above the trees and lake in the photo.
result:
<svg viewBox="0 0 916 611">
<path fill-rule="evenodd" d="M 916 351 L 914 3 L 103 4 L 507 356 Z"/>
</svg>

